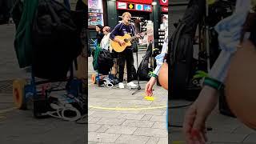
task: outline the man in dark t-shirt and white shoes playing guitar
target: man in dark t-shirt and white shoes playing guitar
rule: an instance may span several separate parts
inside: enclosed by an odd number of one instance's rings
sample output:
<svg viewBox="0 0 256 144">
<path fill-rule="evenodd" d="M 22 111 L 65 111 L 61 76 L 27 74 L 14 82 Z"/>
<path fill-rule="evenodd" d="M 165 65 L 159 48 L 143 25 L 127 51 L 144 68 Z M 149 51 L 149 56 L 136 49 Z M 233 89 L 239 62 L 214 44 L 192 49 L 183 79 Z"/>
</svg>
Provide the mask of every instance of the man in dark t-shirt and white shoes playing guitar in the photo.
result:
<svg viewBox="0 0 256 144">
<path fill-rule="evenodd" d="M 134 26 L 130 24 L 131 14 L 129 12 L 125 12 L 122 14 L 122 22 L 118 23 L 117 26 L 114 27 L 110 34 L 110 39 L 114 42 L 118 42 L 120 46 L 125 46 L 126 42 L 122 40 L 122 38 L 118 38 L 118 36 L 124 36 L 125 34 L 131 34 L 136 38 L 139 38 L 139 35 L 135 35 Z M 113 46 L 113 45 L 112 45 Z M 114 49 L 114 47 L 113 47 Z M 127 86 L 137 87 L 137 85 L 132 82 L 132 74 L 131 70 L 134 66 L 134 54 L 133 54 L 133 47 L 126 46 L 126 49 L 118 53 L 118 86 L 119 88 L 124 88 L 125 85 L 123 83 L 123 74 L 124 74 L 124 67 L 126 62 L 126 70 L 127 70 Z"/>
</svg>

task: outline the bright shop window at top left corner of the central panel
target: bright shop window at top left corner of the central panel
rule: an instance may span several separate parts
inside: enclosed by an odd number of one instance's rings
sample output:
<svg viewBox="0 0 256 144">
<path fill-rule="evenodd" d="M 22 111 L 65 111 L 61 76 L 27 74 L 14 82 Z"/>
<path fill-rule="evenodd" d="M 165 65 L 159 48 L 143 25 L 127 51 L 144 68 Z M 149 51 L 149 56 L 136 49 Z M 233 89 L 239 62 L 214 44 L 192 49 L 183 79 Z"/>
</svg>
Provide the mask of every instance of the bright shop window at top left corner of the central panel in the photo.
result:
<svg viewBox="0 0 256 144">
<path fill-rule="evenodd" d="M 88 26 L 104 26 L 102 0 L 89 0 L 88 8 Z"/>
</svg>

